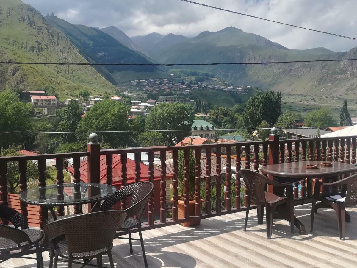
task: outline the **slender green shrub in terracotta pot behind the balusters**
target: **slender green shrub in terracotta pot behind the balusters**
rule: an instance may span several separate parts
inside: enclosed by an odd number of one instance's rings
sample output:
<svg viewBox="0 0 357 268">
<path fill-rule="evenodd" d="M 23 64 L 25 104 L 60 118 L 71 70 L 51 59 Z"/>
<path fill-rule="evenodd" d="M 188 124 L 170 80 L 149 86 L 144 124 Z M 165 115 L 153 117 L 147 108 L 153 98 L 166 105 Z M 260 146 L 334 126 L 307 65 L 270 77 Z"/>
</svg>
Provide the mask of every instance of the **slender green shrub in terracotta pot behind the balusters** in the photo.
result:
<svg viewBox="0 0 357 268">
<path fill-rule="evenodd" d="M 190 142 L 191 144 L 191 142 Z M 190 211 L 190 217 L 196 216 L 195 214 L 195 156 L 193 155 L 193 150 L 190 150 L 189 155 L 189 176 L 188 176 L 188 190 L 189 190 L 189 201 L 188 201 L 188 209 Z M 177 202 L 177 209 L 178 209 L 178 218 L 183 218 L 183 151 L 180 150 L 178 152 L 178 202 Z M 171 199 L 172 201 L 172 199 Z M 202 203 L 205 202 L 205 199 L 201 197 L 200 202 L 200 209 L 202 211 Z M 182 223 L 183 227 L 190 227 L 192 225 L 200 224 L 200 219 L 193 219 L 190 222 Z"/>
</svg>

